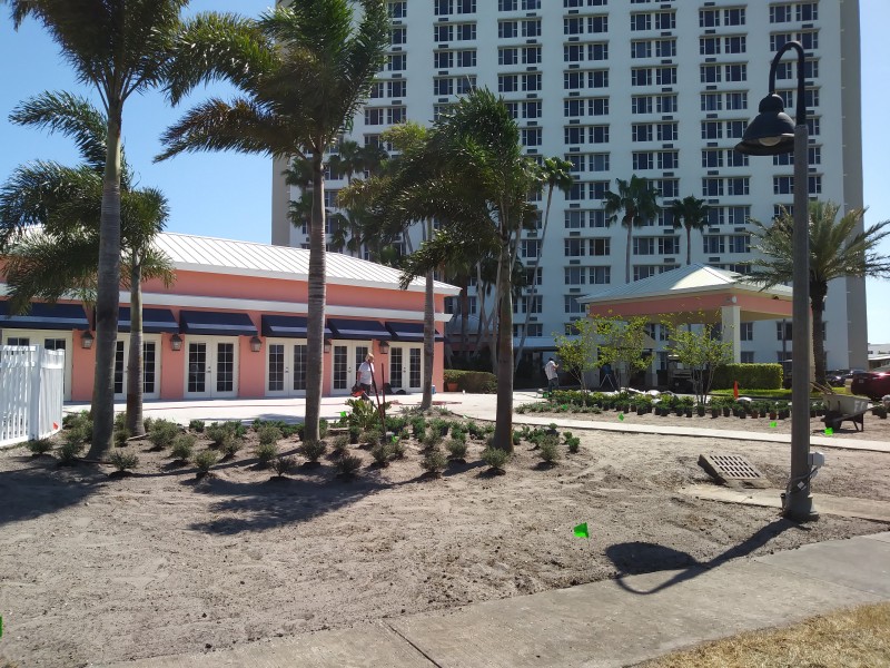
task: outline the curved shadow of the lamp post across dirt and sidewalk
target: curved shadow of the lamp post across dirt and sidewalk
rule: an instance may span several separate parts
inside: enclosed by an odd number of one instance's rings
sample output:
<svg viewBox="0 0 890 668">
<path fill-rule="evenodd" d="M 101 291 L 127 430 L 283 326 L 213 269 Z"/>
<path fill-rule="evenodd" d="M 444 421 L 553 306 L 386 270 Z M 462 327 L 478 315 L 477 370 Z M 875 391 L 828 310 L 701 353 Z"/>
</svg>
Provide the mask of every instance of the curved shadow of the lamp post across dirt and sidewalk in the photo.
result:
<svg viewBox="0 0 890 668">
<path fill-rule="evenodd" d="M 773 520 L 762 529 L 759 529 L 753 536 L 745 539 L 736 546 L 732 546 L 724 552 L 718 554 L 708 561 L 698 561 L 691 554 L 674 550 L 666 546 L 650 542 L 624 542 L 610 546 L 605 550 L 606 557 L 612 561 L 619 571 L 616 581 L 619 587 L 639 595 L 656 593 L 674 584 L 680 584 L 692 578 L 708 572 L 712 568 L 716 568 L 732 559 L 739 557 L 748 557 L 759 548 L 762 548 L 775 537 L 788 531 L 789 529 L 797 529 L 800 531 L 809 531 L 805 527 L 792 522 L 791 520 L 779 519 Z M 659 572 L 664 570 L 685 569 L 673 576 L 670 580 L 662 582 L 657 587 L 650 590 L 642 591 L 632 588 L 624 578 L 626 576 L 637 576 L 642 573 Z"/>
</svg>

